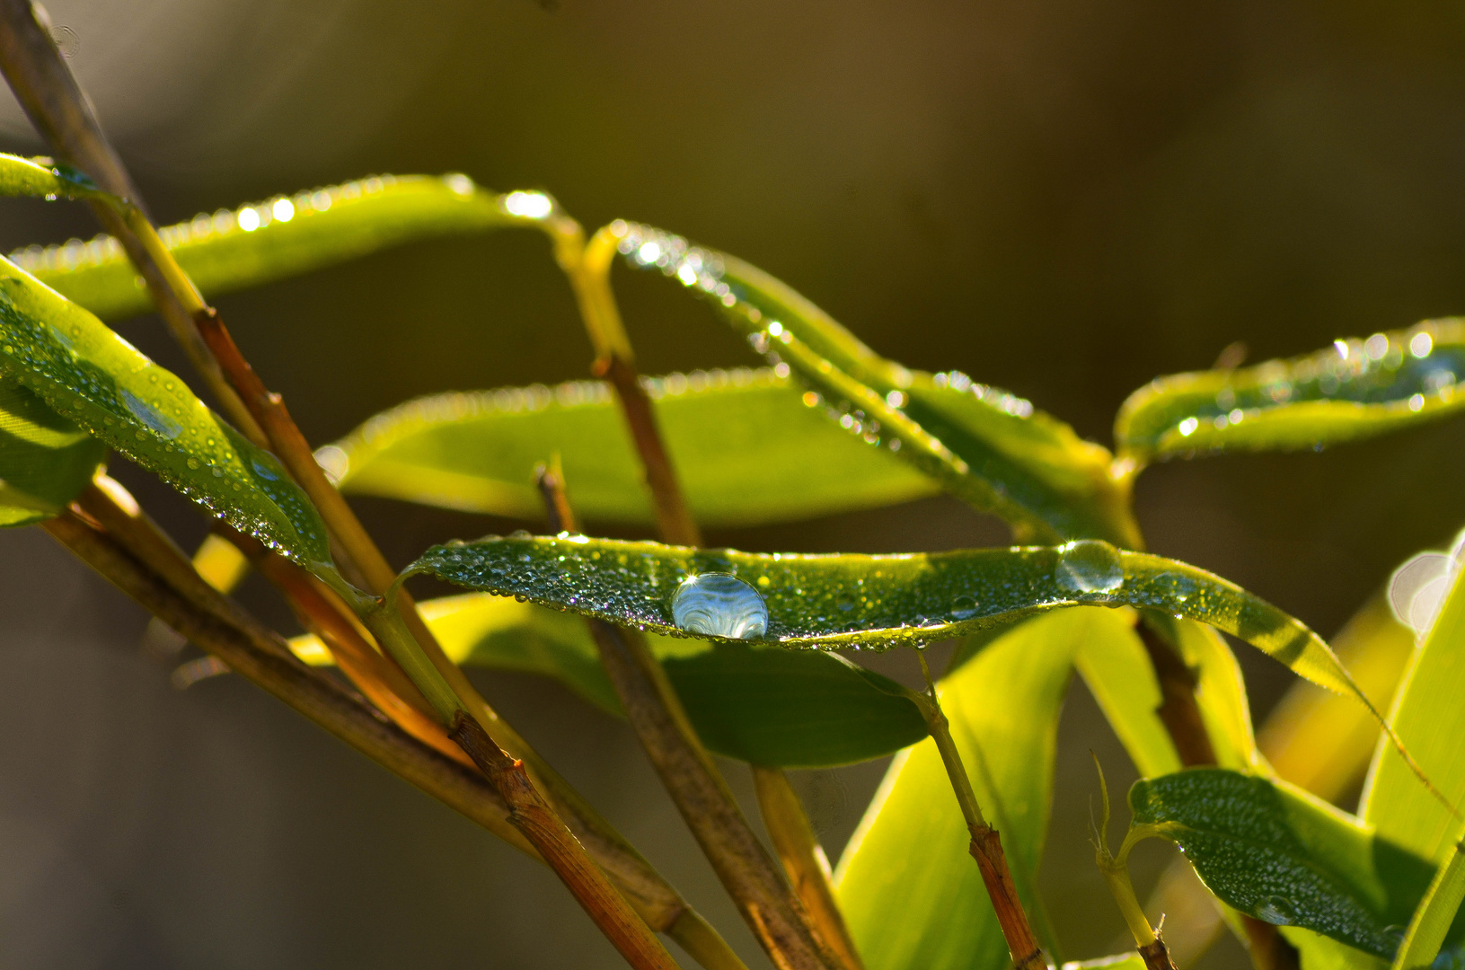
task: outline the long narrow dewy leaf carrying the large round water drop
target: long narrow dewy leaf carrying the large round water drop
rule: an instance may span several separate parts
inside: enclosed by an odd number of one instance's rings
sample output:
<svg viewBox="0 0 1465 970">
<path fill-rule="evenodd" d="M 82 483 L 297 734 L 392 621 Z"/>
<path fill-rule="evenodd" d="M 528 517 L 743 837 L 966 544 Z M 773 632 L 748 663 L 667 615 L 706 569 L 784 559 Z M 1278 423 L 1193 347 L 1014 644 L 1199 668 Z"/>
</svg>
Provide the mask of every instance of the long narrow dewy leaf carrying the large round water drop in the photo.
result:
<svg viewBox="0 0 1465 970">
<path fill-rule="evenodd" d="M 929 643 L 1058 607 L 1150 607 L 1216 626 L 1313 683 L 1357 696 L 1338 658 L 1301 621 L 1194 566 L 1121 552 L 1097 539 L 804 555 L 510 536 L 434 547 L 409 567 L 415 573 L 672 636 L 708 636 L 680 629 L 672 617 L 683 580 L 728 573 L 768 611 L 759 640 L 815 648 Z"/>
</svg>

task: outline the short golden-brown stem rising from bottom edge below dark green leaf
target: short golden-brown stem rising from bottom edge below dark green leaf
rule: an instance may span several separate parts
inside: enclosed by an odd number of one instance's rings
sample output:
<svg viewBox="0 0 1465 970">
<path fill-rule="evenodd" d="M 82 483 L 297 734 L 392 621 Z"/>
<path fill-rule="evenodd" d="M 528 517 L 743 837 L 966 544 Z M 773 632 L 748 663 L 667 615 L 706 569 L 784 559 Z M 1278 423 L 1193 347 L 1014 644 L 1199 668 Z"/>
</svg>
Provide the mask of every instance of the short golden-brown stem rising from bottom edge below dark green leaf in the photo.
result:
<svg viewBox="0 0 1465 970">
<path fill-rule="evenodd" d="M 815 837 L 813 826 L 798 794 L 788 784 L 782 768 L 753 765 L 753 787 L 763 825 L 774 840 L 784 872 L 794 884 L 794 892 L 804 904 L 809 919 L 847 970 L 864 970 L 854 938 L 845 926 L 844 914 L 834 898 L 834 873 L 829 859 Z"/>
</svg>

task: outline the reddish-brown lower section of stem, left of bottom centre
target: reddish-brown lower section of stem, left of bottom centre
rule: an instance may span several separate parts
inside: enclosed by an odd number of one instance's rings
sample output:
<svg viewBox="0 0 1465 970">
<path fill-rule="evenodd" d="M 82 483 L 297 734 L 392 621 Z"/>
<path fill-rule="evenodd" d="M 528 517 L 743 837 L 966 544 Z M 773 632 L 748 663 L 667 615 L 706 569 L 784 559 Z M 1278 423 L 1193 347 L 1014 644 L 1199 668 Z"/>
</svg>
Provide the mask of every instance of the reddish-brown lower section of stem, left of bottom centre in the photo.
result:
<svg viewBox="0 0 1465 970">
<path fill-rule="evenodd" d="M 467 712 L 453 717 L 448 737 L 467 752 L 508 804 L 508 819 L 524 834 L 555 875 L 580 901 L 595 925 L 633 967 L 675 970 L 655 933 L 615 891 L 560 816 L 529 781 L 524 762 L 511 758 Z"/>
</svg>

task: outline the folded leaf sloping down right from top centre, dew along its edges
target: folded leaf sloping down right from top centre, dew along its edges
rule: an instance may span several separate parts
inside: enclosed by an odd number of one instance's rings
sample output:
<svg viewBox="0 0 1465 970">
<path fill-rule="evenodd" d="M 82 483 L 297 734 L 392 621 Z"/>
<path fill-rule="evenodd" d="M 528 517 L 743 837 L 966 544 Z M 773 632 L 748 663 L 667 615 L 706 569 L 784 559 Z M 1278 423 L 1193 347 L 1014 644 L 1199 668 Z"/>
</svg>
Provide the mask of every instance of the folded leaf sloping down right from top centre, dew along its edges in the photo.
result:
<svg viewBox="0 0 1465 970">
<path fill-rule="evenodd" d="M 793 368 L 829 416 L 897 451 L 1023 536 L 1140 545 L 1109 453 L 1031 403 L 960 372 L 886 360 L 784 283 L 734 256 L 649 226 L 615 223 L 631 267 L 661 270 L 708 297 L 757 353 Z"/>
</svg>

